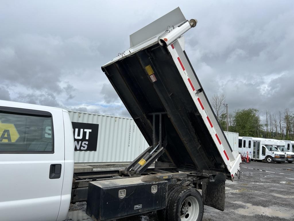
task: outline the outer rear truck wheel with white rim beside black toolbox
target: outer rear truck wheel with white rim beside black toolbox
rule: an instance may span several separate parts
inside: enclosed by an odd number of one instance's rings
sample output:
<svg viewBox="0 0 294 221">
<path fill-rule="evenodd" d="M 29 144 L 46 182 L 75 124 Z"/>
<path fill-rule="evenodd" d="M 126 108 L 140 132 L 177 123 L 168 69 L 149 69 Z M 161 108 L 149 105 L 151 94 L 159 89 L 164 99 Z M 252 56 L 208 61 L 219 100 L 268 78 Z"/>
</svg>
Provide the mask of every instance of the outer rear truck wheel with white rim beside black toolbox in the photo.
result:
<svg viewBox="0 0 294 221">
<path fill-rule="evenodd" d="M 203 201 L 198 190 L 181 187 L 171 194 L 166 208 L 168 221 L 201 221 Z"/>
</svg>

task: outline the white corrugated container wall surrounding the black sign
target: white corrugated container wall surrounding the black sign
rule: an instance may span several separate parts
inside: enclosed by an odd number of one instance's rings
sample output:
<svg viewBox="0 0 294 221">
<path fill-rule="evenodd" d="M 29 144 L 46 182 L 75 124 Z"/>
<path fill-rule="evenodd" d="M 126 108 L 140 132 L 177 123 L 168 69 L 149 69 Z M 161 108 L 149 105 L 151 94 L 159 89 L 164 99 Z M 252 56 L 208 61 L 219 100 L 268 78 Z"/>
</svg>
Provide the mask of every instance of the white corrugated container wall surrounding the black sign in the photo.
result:
<svg viewBox="0 0 294 221">
<path fill-rule="evenodd" d="M 131 162 L 148 144 L 131 118 L 69 110 L 72 122 L 99 124 L 97 151 L 75 151 L 75 163 Z"/>
</svg>

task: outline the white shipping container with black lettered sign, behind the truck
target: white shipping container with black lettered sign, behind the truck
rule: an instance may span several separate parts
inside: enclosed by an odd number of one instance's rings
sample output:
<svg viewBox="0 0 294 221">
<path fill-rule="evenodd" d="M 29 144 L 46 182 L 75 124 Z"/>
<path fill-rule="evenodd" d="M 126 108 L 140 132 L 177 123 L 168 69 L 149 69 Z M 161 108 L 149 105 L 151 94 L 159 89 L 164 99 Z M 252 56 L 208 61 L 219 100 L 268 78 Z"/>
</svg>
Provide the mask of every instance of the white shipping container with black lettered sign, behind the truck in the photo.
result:
<svg viewBox="0 0 294 221">
<path fill-rule="evenodd" d="M 149 146 L 132 118 L 71 110 L 69 115 L 75 136 L 75 164 L 127 163 Z M 85 143 L 91 138 L 95 139 L 91 144 Z"/>
</svg>

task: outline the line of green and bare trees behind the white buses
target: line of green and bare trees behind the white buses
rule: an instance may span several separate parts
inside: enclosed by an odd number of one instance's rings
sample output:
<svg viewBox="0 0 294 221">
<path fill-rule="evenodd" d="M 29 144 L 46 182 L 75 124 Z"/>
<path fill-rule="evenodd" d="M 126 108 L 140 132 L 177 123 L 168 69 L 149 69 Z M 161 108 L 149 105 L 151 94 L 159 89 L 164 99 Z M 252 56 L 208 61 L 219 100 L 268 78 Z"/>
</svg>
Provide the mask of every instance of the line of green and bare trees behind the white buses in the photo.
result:
<svg viewBox="0 0 294 221">
<path fill-rule="evenodd" d="M 225 111 L 225 95 L 213 95 L 211 105 L 223 130 L 227 126 Z M 273 138 L 278 140 L 294 141 L 294 113 L 286 108 L 278 114 L 264 113 L 265 121 L 262 122 L 259 110 L 256 108 L 237 109 L 228 113 L 228 131 L 239 133 L 239 136 Z"/>
</svg>

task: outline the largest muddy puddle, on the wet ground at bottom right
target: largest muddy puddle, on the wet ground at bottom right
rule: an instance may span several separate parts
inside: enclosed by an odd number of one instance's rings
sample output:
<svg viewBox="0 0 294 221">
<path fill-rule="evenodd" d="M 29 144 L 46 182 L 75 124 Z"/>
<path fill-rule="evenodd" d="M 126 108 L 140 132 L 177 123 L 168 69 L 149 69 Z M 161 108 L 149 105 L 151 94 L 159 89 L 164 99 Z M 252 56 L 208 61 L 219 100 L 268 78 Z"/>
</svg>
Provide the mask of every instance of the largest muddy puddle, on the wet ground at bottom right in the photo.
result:
<svg viewBox="0 0 294 221">
<path fill-rule="evenodd" d="M 294 210 L 287 207 L 262 207 L 262 206 L 254 206 L 250 203 L 243 203 L 243 202 L 232 202 L 235 204 L 243 205 L 243 208 L 239 208 L 234 210 L 234 212 L 247 215 L 247 216 L 254 216 L 254 215 L 265 215 L 265 216 L 272 216 L 272 217 L 281 217 L 281 218 L 293 218 Z"/>
</svg>

